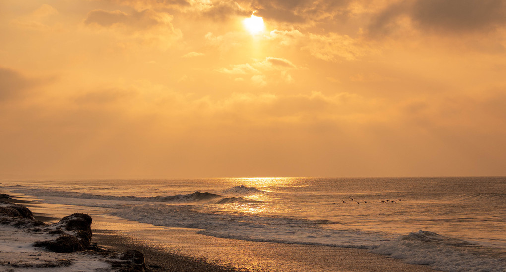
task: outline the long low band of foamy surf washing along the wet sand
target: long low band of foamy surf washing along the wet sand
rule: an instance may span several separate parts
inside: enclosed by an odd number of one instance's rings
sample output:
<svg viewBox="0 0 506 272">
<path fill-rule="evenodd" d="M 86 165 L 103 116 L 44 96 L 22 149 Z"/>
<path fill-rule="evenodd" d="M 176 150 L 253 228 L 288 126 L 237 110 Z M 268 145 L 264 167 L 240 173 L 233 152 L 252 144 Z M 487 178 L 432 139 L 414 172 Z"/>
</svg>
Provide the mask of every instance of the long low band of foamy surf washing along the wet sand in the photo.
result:
<svg viewBox="0 0 506 272">
<path fill-rule="evenodd" d="M 197 228 L 199 234 L 247 241 L 372 248 L 388 240 L 376 232 L 322 228 L 321 222 L 311 220 L 204 210 L 198 206 L 145 204 L 114 215 L 158 226 Z"/>
</svg>

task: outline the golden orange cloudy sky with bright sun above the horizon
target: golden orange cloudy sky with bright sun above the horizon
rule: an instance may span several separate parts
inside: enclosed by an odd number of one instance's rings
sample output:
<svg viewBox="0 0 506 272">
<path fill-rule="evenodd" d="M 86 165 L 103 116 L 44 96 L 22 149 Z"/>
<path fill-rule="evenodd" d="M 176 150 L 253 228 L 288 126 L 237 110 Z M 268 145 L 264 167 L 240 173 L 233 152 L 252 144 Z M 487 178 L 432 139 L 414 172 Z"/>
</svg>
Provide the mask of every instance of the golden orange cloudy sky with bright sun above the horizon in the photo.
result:
<svg viewBox="0 0 506 272">
<path fill-rule="evenodd" d="M 0 178 L 506 175 L 505 53 L 502 0 L 0 0 Z"/>
</svg>

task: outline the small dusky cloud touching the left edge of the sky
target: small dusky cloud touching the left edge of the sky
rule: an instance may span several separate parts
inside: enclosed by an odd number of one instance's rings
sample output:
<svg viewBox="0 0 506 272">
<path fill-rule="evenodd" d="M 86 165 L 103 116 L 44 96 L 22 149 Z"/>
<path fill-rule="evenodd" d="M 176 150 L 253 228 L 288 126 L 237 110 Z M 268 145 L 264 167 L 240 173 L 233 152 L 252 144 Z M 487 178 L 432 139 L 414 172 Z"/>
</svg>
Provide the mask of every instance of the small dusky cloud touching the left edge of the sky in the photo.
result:
<svg viewBox="0 0 506 272">
<path fill-rule="evenodd" d="M 24 90 L 35 84 L 14 70 L 0 67 L 0 101 L 22 96 Z"/>
</svg>

